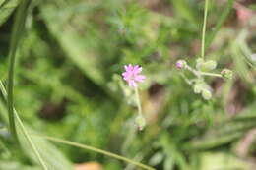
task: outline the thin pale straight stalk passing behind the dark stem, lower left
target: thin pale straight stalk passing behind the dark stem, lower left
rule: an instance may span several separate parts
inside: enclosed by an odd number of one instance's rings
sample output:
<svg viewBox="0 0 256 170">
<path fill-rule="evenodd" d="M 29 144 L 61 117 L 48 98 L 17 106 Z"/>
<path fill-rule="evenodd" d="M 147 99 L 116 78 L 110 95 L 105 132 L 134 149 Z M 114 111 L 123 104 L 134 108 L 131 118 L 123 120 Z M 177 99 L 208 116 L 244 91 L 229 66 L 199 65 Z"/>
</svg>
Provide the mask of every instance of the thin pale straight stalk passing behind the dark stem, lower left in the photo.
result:
<svg viewBox="0 0 256 170">
<path fill-rule="evenodd" d="M 5 86 L 3 85 L 1 80 L 0 80 L 0 90 L 1 90 L 4 98 L 7 99 L 7 92 L 6 92 Z M 21 131 L 23 132 L 23 134 L 24 134 L 25 138 L 27 139 L 27 141 L 31 144 L 32 150 L 35 153 L 37 159 L 39 160 L 39 163 L 41 164 L 41 166 L 43 167 L 44 170 L 48 170 L 48 168 L 46 166 L 46 163 L 43 161 L 42 157 L 40 156 L 40 154 L 38 152 L 38 149 L 36 148 L 35 144 L 32 142 L 32 139 L 31 139 L 29 133 L 27 132 L 25 126 L 23 125 L 23 122 L 20 119 L 16 109 L 13 108 L 13 110 L 14 110 L 15 118 L 17 119 L 18 124 L 21 126 Z"/>
</svg>

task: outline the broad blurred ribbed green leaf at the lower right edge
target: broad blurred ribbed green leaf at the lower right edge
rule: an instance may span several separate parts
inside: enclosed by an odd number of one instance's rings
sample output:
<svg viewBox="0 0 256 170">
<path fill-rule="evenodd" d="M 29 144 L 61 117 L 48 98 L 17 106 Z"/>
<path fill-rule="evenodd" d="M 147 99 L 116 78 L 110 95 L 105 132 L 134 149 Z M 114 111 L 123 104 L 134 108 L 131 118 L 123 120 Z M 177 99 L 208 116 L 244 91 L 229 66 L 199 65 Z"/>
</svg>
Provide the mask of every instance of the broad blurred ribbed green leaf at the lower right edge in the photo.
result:
<svg viewBox="0 0 256 170">
<path fill-rule="evenodd" d="M 184 144 L 185 149 L 209 149 L 233 142 L 243 136 L 248 130 L 255 128 L 255 103 L 241 112 L 236 118 L 225 120 L 210 128 L 204 135 Z"/>
</svg>

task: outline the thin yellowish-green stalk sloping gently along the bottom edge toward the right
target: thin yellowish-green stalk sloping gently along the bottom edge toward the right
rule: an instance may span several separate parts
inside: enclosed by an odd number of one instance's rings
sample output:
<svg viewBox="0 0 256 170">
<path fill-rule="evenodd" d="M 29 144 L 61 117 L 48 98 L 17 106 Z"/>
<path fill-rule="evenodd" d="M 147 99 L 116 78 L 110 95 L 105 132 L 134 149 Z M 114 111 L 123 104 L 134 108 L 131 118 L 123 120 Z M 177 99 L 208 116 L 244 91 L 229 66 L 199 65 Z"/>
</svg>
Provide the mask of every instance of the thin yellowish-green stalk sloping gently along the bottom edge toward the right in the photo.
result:
<svg viewBox="0 0 256 170">
<path fill-rule="evenodd" d="M 88 149 L 88 150 L 91 150 L 91 151 L 95 151 L 97 153 L 101 153 L 101 154 L 104 154 L 106 156 L 113 157 L 113 158 L 123 160 L 123 161 L 128 162 L 128 163 L 137 165 L 137 166 L 139 166 L 141 168 L 144 168 L 144 169 L 155 170 L 154 168 L 152 168 L 150 166 L 144 165 L 142 163 L 136 162 L 134 160 L 128 159 L 126 157 L 122 157 L 120 155 L 117 155 L 117 154 L 114 154 L 114 153 L 111 153 L 111 152 L 108 152 L 108 151 L 105 151 L 105 150 L 98 149 L 98 148 L 93 147 L 93 146 L 89 146 L 89 145 L 85 145 L 85 144 L 81 144 L 81 143 L 77 143 L 77 142 L 70 142 L 70 141 L 66 141 L 66 140 L 62 140 L 62 139 L 58 139 L 58 138 L 54 138 L 54 137 L 49 137 L 49 136 L 44 136 L 44 135 L 37 135 L 37 134 L 32 134 L 32 135 L 43 138 L 43 139 L 46 139 L 46 140 L 49 140 L 49 141 L 61 142 L 61 143 L 64 143 L 64 144 L 68 144 L 68 145 Z"/>
</svg>

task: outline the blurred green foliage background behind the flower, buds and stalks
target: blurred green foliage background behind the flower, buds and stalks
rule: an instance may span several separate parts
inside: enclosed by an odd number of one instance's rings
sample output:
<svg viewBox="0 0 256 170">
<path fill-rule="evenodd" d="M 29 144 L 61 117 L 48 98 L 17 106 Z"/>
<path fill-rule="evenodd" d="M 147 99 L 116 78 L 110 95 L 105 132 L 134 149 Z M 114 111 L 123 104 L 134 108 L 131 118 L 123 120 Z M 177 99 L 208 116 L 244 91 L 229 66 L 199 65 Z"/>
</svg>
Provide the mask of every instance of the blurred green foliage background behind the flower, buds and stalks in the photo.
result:
<svg viewBox="0 0 256 170">
<path fill-rule="evenodd" d="M 20 2 L 0 0 L 4 83 Z M 14 103 L 29 129 L 158 170 L 256 169 L 255 1 L 210 0 L 206 59 L 218 62 L 217 73 L 231 69 L 234 78 L 207 78 L 213 88 L 209 101 L 175 68 L 178 59 L 194 65 L 199 57 L 203 0 L 32 0 L 28 8 Z M 141 65 L 147 76 L 140 86 L 148 124 L 142 132 L 134 125 L 131 89 L 121 79 L 128 63 Z M 6 116 L 1 96 L 0 169 L 40 169 L 28 143 L 18 151 Z M 33 141 L 50 170 L 140 169 L 93 151 Z M 91 169 L 88 162 L 95 162 Z"/>
</svg>

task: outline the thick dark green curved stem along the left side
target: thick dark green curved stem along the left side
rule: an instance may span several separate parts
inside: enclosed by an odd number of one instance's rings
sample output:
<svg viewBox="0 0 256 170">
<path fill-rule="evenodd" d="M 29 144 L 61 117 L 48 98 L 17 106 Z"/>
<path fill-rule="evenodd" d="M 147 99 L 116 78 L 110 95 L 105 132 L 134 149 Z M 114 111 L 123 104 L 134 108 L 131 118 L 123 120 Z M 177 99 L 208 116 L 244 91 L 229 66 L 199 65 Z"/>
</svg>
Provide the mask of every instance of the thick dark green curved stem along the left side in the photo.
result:
<svg viewBox="0 0 256 170">
<path fill-rule="evenodd" d="M 18 44 L 21 40 L 21 36 L 23 33 L 26 17 L 27 17 L 27 5 L 29 1 L 23 0 L 18 7 L 18 11 L 15 15 L 14 26 L 11 34 L 11 42 L 9 48 L 9 71 L 8 71 L 8 85 L 7 85 L 7 104 L 8 104 L 8 113 L 9 113 L 9 126 L 10 131 L 17 142 L 20 145 L 16 127 L 15 127 L 15 119 L 14 119 L 14 110 L 13 110 L 13 86 L 14 86 L 14 67 L 15 67 L 15 57 L 16 51 L 18 48 Z"/>
</svg>

